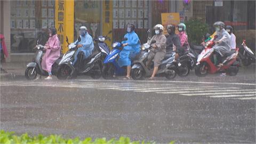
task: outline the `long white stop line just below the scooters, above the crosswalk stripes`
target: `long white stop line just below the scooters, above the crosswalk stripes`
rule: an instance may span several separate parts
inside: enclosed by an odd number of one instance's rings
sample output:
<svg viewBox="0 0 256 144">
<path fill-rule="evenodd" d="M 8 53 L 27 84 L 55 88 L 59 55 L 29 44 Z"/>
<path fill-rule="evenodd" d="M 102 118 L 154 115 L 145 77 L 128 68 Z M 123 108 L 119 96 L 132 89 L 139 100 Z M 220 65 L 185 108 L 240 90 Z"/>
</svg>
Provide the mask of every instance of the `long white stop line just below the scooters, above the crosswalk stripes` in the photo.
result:
<svg viewBox="0 0 256 144">
<path fill-rule="evenodd" d="M 107 82 L 123 82 L 123 80 L 115 80 L 115 79 L 77 79 L 77 81 L 107 81 Z M 217 83 L 217 82 L 192 82 L 192 81 L 137 81 L 137 82 L 147 82 L 147 83 L 195 83 L 195 84 L 230 84 L 230 85 L 256 85 L 252 83 Z"/>
</svg>

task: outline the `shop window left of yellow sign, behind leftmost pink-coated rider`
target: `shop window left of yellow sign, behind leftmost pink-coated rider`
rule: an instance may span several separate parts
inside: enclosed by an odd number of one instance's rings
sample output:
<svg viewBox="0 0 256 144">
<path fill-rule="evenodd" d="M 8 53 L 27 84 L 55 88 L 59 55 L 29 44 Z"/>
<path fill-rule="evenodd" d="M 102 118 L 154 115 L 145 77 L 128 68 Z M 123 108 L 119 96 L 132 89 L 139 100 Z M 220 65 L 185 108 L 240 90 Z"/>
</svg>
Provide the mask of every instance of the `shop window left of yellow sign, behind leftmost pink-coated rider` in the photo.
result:
<svg viewBox="0 0 256 144">
<path fill-rule="evenodd" d="M 37 39 L 45 44 L 54 26 L 55 1 L 11 1 L 11 52 L 33 52 Z"/>
</svg>

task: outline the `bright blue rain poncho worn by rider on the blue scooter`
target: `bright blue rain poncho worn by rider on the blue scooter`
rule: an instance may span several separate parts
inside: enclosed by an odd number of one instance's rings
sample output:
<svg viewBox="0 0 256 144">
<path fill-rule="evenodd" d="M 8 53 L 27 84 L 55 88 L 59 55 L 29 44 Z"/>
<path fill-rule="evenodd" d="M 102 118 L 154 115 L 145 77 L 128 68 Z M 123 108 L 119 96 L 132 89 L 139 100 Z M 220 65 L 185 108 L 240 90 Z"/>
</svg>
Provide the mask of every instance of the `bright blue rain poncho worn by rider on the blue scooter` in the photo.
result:
<svg viewBox="0 0 256 144">
<path fill-rule="evenodd" d="M 131 59 L 140 52 L 140 39 L 134 31 L 127 33 L 124 37 L 127 40 L 122 43 L 127 43 L 128 45 L 124 46 L 124 49 L 119 54 L 118 65 L 120 67 L 131 66 Z"/>
</svg>

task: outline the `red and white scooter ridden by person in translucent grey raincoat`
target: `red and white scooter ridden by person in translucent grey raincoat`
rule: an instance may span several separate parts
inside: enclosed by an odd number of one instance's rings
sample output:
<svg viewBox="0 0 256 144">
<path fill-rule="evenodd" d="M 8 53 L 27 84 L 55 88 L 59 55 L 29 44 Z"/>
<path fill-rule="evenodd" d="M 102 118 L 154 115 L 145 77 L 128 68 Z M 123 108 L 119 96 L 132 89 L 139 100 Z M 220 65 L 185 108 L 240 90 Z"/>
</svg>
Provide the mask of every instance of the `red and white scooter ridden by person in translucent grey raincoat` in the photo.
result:
<svg viewBox="0 0 256 144">
<path fill-rule="evenodd" d="M 223 60 L 223 66 L 217 67 L 214 65 L 214 50 L 212 47 L 215 45 L 215 36 L 213 39 L 208 41 L 205 44 L 205 49 L 198 55 L 195 73 L 199 77 L 204 77 L 207 73 L 214 74 L 218 71 L 226 71 L 226 73 L 230 76 L 235 76 L 239 70 L 239 62 L 236 61 L 238 56 L 238 48 L 236 50 L 231 50 L 231 52 L 227 53 Z"/>
</svg>

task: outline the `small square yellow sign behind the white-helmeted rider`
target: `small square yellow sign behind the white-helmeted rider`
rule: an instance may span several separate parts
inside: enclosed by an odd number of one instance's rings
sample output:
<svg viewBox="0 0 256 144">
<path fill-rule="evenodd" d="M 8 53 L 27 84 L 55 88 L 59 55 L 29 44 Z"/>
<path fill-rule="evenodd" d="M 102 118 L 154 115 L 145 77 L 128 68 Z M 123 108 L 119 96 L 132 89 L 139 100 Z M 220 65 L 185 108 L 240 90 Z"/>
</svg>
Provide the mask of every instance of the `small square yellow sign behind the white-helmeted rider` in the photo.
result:
<svg viewBox="0 0 256 144">
<path fill-rule="evenodd" d="M 166 26 L 177 26 L 180 23 L 180 13 L 161 13 L 162 25 L 164 26 L 164 34 L 167 34 Z M 176 33 L 178 30 L 176 29 Z"/>
</svg>

